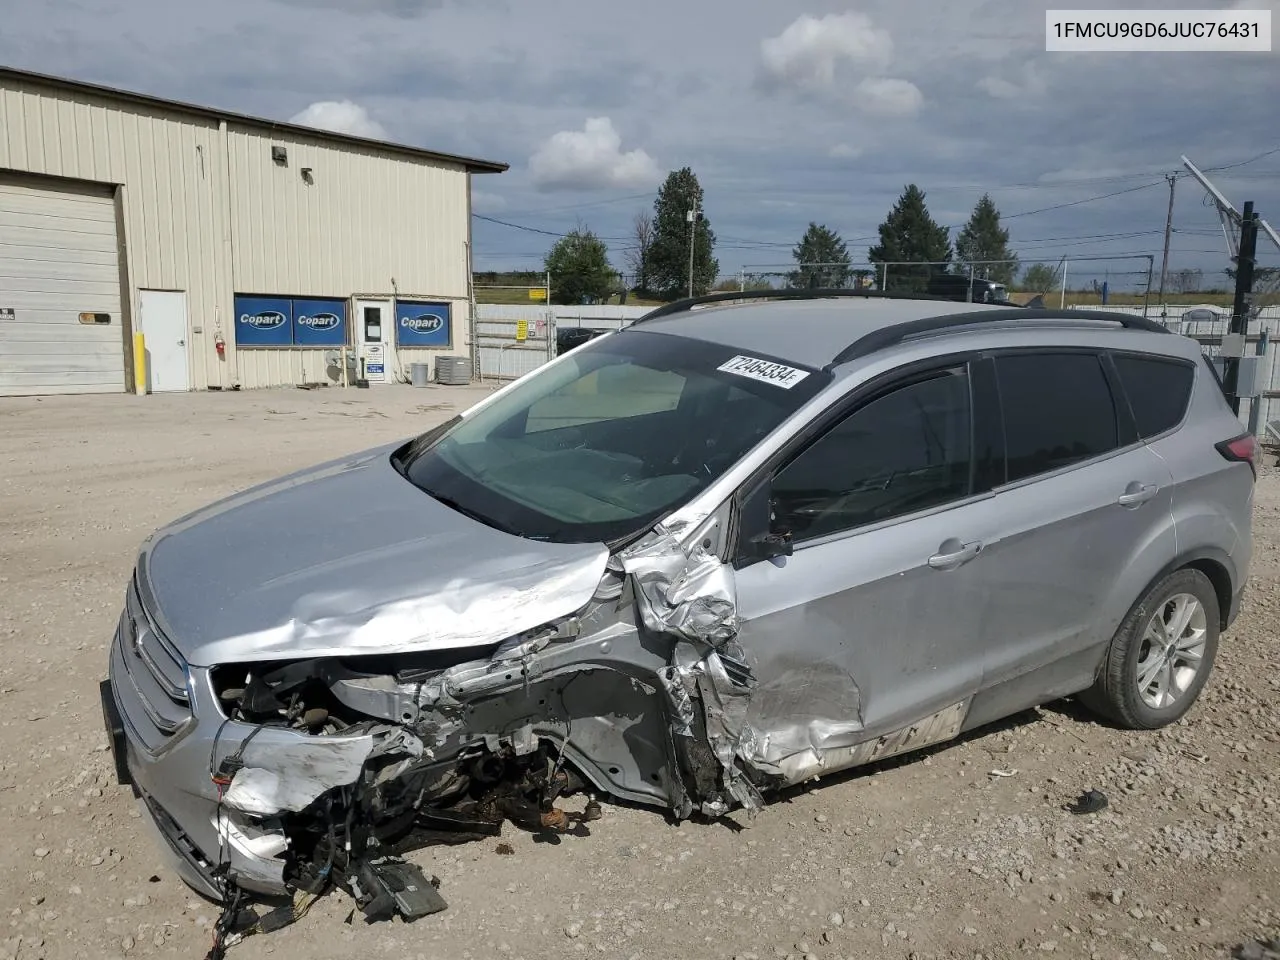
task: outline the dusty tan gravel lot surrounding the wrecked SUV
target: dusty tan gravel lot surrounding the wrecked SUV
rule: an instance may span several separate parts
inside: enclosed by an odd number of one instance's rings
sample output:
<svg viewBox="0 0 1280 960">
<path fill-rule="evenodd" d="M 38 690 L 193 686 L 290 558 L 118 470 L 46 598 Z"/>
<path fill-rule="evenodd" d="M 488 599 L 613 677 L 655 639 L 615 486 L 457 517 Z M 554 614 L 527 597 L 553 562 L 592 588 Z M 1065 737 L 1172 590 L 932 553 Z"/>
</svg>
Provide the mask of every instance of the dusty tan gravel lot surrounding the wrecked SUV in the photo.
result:
<svg viewBox="0 0 1280 960">
<path fill-rule="evenodd" d="M 202 957 L 216 910 L 111 781 L 96 684 L 140 541 L 216 497 L 417 433 L 480 388 L 0 399 L 0 957 Z M 1274 462 L 1275 457 L 1268 457 Z M 1158 733 L 1053 704 L 753 820 L 605 806 L 590 837 L 415 856 L 449 910 L 321 900 L 232 957 L 1226 956 L 1280 936 L 1280 470 L 1199 705 Z M 996 776 L 1000 771 L 1011 776 Z M 1110 806 L 1064 804 L 1098 788 Z"/>
</svg>

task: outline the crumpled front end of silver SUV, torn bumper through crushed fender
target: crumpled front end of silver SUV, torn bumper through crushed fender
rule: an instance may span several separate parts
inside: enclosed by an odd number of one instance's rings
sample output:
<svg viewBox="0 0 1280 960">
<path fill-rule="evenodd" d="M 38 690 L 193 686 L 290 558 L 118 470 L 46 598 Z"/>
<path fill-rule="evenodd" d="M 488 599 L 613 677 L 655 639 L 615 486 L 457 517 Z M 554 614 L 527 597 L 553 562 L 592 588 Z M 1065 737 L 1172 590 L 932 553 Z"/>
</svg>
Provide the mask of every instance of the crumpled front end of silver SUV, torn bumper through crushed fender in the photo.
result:
<svg viewBox="0 0 1280 960">
<path fill-rule="evenodd" d="M 508 820 L 577 829 L 598 795 L 680 818 L 755 809 L 785 777 L 750 763 L 765 754 L 726 518 L 657 529 L 609 558 L 576 613 L 489 646 L 182 664 L 189 719 L 173 742 L 136 730 L 147 658 L 122 634 L 111 682 L 136 790 L 188 881 L 223 897 L 340 884 L 360 900 L 370 863 Z M 580 792 L 585 809 L 561 808 Z"/>
</svg>

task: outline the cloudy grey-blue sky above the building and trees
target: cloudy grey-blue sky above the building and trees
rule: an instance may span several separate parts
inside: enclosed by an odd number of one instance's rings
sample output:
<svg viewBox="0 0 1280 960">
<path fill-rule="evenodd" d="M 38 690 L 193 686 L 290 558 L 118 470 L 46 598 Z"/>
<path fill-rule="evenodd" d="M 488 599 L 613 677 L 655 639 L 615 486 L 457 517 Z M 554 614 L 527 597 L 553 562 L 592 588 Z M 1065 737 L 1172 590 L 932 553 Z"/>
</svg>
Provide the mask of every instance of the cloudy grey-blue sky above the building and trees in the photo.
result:
<svg viewBox="0 0 1280 960">
<path fill-rule="evenodd" d="M 0 22 L 12 67 L 509 163 L 476 178 L 476 212 L 516 225 L 477 220 L 479 269 L 536 268 L 579 221 L 622 268 L 684 165 L 724 274 L 785 269 L 810 220 L 863 260 L 910 182 L 945 224 L 989 191 L 1024 260 L 1158 269 L 1181 154 L 1280 225 L 1280 45 L 1047 54 L 1027 0 L 0 0 Z M 1175 269 L 1226 265 L 1203 201 L 1178 182 Z"/>
</svg>

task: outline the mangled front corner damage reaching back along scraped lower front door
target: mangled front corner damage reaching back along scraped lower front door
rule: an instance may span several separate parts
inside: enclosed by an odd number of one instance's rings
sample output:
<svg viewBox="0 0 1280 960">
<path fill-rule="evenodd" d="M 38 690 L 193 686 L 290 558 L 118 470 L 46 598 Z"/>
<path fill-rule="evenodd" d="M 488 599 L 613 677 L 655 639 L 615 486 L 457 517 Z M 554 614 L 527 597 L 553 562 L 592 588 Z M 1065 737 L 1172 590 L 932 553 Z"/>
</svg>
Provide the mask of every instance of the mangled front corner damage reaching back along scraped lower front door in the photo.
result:
<svg viewBox="0 0 1280 960">
<path fill-rule="evenodd" d="M 966 701 L 868 736 L 847 673 L 744 649 L 727 516 L 654 530 L 608 559 L 576 614 L 485 648 L 214 668 L 236 731 L 210 758 L 219 835 L 252 856 L 218 865 L 211 956 L 333 888 L 370 922 L 445 909 L 401 859 L 413 849 L 507 822 L 585 833 L 608 797 L 677 819 L 754 813 L 786 786 L 956 735 Z M 575 794 L 581 812 L 558 805 Z M 243 915 L 251 891 L 282 888 L 289 905 Z"/>
</svg>

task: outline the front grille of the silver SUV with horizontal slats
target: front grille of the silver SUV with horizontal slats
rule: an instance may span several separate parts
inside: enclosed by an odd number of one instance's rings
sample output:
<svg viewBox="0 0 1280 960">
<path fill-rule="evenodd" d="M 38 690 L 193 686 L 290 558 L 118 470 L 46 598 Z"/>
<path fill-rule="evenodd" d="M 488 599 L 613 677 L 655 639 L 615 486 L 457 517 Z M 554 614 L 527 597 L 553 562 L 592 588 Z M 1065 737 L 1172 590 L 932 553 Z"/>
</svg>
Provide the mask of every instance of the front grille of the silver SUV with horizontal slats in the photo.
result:
<svg viewBox="0 0 1280 960">
<path fill-rule="evenodd" d="M 147 617 L 137 582 L 129 585 L 116 628 L 111 684 L 129 726 L 151 753 L 191 723 L 187 662 Z"/>
</svg>

